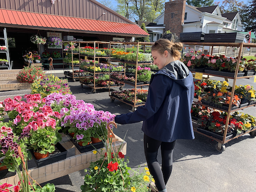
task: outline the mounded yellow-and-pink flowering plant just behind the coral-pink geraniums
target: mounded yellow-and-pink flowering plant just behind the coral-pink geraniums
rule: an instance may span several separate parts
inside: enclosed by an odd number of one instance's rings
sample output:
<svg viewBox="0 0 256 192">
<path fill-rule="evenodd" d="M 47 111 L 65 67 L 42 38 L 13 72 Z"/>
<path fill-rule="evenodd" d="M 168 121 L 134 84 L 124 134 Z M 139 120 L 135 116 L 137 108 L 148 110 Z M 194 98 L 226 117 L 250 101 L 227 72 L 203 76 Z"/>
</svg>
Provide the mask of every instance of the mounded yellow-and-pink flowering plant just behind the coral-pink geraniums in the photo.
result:
<svg viewBox="0 0 256 192">
<path fill-rule="evenodd" d="M 49 75 L 42 79 L 36 79 L 31 84 L 31 93 L 39 93 L 41 97 L 46 97 L 51 93 L 71 94 L 67 79 L 60 79 L 57 76 Z"/>
</svg>

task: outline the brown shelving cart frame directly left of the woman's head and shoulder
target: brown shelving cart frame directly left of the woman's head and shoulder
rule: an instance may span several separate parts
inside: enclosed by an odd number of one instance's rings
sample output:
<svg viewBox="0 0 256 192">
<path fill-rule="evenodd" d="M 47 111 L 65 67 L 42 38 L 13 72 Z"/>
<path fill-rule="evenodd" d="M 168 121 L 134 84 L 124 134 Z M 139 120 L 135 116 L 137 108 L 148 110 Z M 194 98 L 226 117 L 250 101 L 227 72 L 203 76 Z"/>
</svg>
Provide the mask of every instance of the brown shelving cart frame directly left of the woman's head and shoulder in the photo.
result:
<svg viewBox="0 0 256 192">
<path fill-rule="evenodd" d="M 136 93 L 137 93 L 137 87 L 144 87 L 144 86 L 149 86 L 150 84 L 149 83 L 145 83 L 145 84 L 137 84 L 137 74 L 138 74 L 138 65 L 150 65 L 152 63 L 142 63 L 142 62 L 138 62 L 138 54 L 139 54 L 139 46 L 143 46 L 144 48 L 144 52 L 145 52 L 145 46 L 146 45 L 153 45 L 154 42 L 111 42 L 111 45 L 124 45 L 125 47 L 125 51 L 126 51 L 126 45 L 134 45 L 134 46 L 137 46 L 137 57 L 136 57 L 136 62 L 131 62 L 131 61 L 121 61 L 120 59 L 113 59 L 113 61 L 118 61 L 118 62 L 123 62 L 124 63 L 124 69 L 126 69 L 126 63 L 129 63 L 129 64 L 132 64 L 135 66 L 135 83 L 129 83 L 127 81 L 121 81 L 119 80 L 119 82 L 122 82 L 122 83 L 126 83 L 126 84 L 130 84 L 131 86 L 134 86 L 134 89 L 135 89 L 135 95 L 134 95 L 134 102 L 126 102 L 125 100 L 123 99 L 119 99 L 113 95 L 110 94 L 110 91 L 109 91 L 109 96 L 111 98 L 111 101 L 114 102 L 115 99 L 127 104 L 127 105 L 130 105 L 132 106 L 132 111 L 134 112 L 136 110 L 136 108 L 138 108 L 139 106 L 143 106 L 145 105 L 145 103 L 138 103 L 136 104 Z M 110 55 L 111 56 L 111 55 Z M 125 71 L 124 71 L 124 74 L 125 74 Z M 114 80 L 117 80 L 117 79 L 114 79 Z M 118 81 L 118 80 L 117 80 Z"/>
</svg>

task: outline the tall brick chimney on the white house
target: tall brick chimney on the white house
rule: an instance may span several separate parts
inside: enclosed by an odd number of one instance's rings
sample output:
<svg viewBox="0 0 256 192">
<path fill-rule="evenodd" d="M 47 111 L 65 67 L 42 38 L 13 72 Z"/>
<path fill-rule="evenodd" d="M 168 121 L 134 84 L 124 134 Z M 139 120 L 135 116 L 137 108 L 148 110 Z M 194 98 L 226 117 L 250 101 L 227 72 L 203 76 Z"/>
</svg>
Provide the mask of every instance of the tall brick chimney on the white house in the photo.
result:
<svg viewBox="0 0 256 192">
<path fill-rule="evenodd" d="M 180 37 L 183 32 L 186 0 L 170 0 L 165 3 L 164 24 L 165 31 L 170 30 Z"/>
</svg>

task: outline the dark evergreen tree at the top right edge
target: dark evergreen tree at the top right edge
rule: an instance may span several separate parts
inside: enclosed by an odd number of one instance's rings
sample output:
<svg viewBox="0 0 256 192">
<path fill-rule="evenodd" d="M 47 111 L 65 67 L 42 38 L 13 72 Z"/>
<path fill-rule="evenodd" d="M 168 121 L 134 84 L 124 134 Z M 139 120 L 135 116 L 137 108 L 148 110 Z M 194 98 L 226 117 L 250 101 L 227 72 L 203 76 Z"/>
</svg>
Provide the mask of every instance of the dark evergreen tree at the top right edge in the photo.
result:
<svg viewBox="0 0 256 192">
<path fill-rule="evenodd" d="M 240 12 L 245 31 L 256 32 L 256 0 L 250 0 Z"/>
</svg>

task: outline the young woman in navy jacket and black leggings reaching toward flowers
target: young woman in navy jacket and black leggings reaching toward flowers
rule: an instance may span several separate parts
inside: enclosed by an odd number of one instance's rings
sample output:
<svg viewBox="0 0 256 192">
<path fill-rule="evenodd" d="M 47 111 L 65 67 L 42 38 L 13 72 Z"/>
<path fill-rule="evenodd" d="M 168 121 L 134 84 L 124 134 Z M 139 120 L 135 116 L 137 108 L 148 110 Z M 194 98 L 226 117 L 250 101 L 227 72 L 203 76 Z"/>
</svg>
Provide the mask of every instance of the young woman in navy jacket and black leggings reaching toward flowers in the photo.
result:
<svg viewBox="0 0 256 192">
<path fill-rule="evenodd" d="M 152 75 L 145 105 L 133 113 L 115 117 L 115 122 L 120 124 L 143 121 L 145 157 L 158 191 L 167 191 L 165 185 L 172 172 L 176 140 L 195 138 L 190 116 L 193 75 L 179 60 L 181 49 L 180 42 L 168 39 L 155 42 L 152 56 L 159 71 Z M 160 146 L 162 168 L 157 161 Z"/>
</svg>

